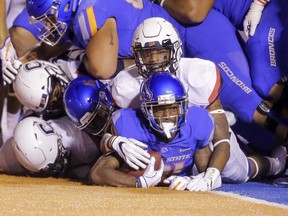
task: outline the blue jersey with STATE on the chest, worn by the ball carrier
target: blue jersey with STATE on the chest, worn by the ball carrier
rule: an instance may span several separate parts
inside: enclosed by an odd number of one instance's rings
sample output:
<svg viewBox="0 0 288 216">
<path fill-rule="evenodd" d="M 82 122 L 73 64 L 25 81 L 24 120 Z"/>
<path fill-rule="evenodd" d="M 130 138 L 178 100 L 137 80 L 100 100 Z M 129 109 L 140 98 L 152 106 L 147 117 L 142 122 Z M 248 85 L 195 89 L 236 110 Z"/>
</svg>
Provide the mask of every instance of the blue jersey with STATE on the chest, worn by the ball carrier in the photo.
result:
<svg viewBox="0 0 288 216">
<path fill-rule="evenodd" d="M 214 134 L 211 115 L 200 107 L 188 109 L 186 123 L 168 143 L 155 135 L 141 110 L 121 109 L 112 119 L 117 135 L 137 139 L 161 154 L 165 176 L 191 175 L 195 151 L 208 145 Z"/>
</svg>

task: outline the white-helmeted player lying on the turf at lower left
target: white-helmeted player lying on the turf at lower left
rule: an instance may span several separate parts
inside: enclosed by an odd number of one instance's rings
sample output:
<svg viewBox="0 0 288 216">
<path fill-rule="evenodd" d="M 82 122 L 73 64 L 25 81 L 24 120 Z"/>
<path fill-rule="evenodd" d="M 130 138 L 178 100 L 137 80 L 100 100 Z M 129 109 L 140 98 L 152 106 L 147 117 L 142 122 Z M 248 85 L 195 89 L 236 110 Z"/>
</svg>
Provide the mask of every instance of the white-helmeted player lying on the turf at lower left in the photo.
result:
<svg viewBox="0 0 288 216">
<path fill-rule="evenodd" d="M 85 179 L 100 152 L 88 134 L 66 116 L 21 120 L 0 149 L 0 170 L 11 175 Z"/>
</svg>

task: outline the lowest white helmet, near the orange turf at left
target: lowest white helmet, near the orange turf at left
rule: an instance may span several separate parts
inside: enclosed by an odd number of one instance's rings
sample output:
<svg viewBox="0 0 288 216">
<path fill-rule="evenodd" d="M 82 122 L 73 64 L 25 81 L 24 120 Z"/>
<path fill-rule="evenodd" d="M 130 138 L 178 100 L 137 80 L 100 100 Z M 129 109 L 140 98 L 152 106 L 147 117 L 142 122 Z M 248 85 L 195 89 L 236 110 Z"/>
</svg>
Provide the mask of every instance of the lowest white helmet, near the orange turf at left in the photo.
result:
<svg viewBox="0 0 288 216">
<path fill-rule="evenodd" d="M 41 118 L 20 121 L 14 129 L 12 146 L 19 163 L 31 174 L 59 176 L 67 167 L 69 152 L 61 136 Z"/>
</svg>

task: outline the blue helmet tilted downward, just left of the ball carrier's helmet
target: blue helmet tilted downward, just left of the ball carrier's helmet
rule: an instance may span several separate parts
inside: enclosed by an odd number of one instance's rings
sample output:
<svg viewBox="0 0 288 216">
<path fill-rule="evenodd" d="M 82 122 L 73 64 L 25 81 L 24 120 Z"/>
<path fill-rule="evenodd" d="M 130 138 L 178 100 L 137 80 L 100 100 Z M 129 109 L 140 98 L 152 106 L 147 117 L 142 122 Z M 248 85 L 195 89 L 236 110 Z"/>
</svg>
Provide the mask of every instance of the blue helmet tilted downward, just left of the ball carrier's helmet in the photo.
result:
<svg viewBox="0 0 288 216">
<path fill-rule="evenodd" d="M 67 115 L 79 130 L 99 135 L 109 124 L 114 104 L 107 87 L 90 76 L 72 80 L 64 92 Z"/>
</svg>

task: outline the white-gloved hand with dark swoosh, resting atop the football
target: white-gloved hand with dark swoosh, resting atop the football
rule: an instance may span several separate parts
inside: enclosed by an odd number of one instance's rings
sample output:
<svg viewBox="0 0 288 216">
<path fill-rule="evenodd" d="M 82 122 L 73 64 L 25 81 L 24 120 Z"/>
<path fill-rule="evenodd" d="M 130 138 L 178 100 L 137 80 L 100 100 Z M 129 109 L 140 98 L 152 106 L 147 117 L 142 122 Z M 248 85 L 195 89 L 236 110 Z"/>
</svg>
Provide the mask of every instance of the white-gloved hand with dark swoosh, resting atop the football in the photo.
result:
<svg viewBox="0 0 288 216">
<path fill-rule="evenodd" d="M 135 170 L 139 167 L 145 169 L 150 162 L 150 154 L 144 150 L 148 146 L 133 138 L 113 136 L 112 148 L 122 157 L 125 162 Z"/>
</svg>

